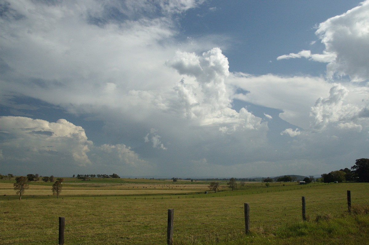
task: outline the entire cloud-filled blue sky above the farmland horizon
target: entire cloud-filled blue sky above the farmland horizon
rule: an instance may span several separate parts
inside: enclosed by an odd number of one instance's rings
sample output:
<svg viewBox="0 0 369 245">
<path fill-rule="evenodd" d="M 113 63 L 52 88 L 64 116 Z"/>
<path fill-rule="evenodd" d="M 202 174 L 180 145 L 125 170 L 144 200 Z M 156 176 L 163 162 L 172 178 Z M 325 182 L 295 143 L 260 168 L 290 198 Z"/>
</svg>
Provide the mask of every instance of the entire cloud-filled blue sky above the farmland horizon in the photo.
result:
<svg viewBox="0 0 369 245">
<path fill-rule="evenodd" d="M 319 177 L 368 82 L 369 0 L 0 0 L 0 173 Z"/>
</svg>

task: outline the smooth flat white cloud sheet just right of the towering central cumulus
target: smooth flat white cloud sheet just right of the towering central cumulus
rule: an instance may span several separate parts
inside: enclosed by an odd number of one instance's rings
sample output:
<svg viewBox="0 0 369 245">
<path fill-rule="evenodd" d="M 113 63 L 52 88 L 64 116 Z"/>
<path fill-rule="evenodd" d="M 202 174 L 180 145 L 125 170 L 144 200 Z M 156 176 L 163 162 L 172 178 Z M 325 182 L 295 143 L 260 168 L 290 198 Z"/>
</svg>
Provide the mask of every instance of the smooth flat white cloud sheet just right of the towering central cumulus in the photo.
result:
<svg viewBox="0 0 369 245">
<path fill-rule="evenodd" d="M 320 77 L 281 77 L 273 74 L 252 76 L 232 73 L 227 82 L 249 91 L 247 94 L 236 94 L 234 98 L 281 109 L 280 118 L 304 129 L 310 127 L 311 105 L 331 87 Z"/>
</svg>

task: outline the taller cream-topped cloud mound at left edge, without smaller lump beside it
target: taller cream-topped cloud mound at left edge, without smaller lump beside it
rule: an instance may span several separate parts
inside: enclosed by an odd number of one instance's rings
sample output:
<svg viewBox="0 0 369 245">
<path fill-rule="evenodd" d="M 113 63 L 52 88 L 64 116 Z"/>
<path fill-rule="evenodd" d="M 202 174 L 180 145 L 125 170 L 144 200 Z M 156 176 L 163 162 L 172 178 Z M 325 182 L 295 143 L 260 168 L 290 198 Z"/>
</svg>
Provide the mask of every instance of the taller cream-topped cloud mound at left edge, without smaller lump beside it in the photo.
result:
<svg viewBox="0 0 369 245">
<path fill-rule="evenodd" d="M 5 160 L 20 162 L 38 161 L 37 157 L 49 155 L 66 158 L 69 164 L 90 165 L 87 157 L 92 142 L 85 130 L 65 119 L 56 123 L 25 117 L 0 117 L 1 138 Z"/>
</svg>

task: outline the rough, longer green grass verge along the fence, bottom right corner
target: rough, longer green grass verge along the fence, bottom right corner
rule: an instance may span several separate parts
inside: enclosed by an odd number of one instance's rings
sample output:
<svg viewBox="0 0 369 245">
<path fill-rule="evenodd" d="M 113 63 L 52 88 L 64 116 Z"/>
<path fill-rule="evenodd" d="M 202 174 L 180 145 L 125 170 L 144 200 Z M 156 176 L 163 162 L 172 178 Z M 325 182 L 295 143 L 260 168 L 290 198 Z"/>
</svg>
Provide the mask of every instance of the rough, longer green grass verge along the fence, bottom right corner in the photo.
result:
<svg viewBox="0 0 369 245">
<path fill-rule="evenodd" d="M 176 245 L 348 245 L 369 244 L 369 215 L 344 215 L 323 221 L 295 221 L 290 224 L 253 228 L 247 235 L 229 232 L 175 241 Z"/>
</svg>

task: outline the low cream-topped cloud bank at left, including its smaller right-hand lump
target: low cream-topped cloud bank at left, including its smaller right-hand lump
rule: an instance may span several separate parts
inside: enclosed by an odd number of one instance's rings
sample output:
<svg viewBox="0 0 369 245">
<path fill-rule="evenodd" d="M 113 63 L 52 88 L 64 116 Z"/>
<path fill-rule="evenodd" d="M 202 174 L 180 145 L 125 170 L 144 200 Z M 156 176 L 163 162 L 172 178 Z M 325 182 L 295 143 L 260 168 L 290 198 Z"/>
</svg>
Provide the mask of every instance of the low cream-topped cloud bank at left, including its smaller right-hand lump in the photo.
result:
<svg viewBox="0 0 369 245">
<path fill-rule="evenodd" d="M 3 163 L 42 165 L 48 169 L 81 171 L 116 165 L 121 168 L 153 170 L 124 144 L 94 146 L 87 140 L 85 130 L 65 119 L 48 122 L 19 116 L 0 117 L 0 148 Z M 155 169 L 154 169 L 155 170 Z"/>
</svg>

